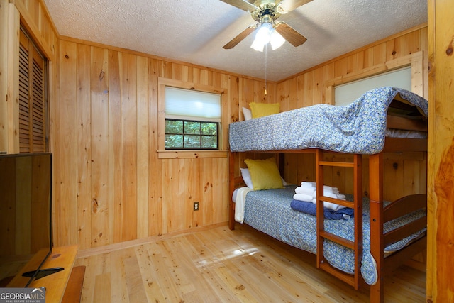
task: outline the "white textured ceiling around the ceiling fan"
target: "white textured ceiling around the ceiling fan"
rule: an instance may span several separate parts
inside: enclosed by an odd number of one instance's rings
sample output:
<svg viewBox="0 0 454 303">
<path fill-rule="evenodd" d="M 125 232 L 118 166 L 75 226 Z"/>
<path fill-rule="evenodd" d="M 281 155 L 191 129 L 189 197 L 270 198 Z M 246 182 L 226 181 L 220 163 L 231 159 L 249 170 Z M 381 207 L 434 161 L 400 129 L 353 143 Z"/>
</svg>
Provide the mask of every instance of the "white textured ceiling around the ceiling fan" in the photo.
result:
<svg viewBox="0 0 454 303">
<path fill-rule="evenodd" d="M 255 23 L 219 0 L 44 0 L 60 35 L 137 50 L 265 79 L 265 52 L 253 34 L 224 50 Z M 427 21 L 426 0 L 313 0 L 282 15 L 308 40 L 267 51 L 266 79 L 278 81 Z"/>
</svg>

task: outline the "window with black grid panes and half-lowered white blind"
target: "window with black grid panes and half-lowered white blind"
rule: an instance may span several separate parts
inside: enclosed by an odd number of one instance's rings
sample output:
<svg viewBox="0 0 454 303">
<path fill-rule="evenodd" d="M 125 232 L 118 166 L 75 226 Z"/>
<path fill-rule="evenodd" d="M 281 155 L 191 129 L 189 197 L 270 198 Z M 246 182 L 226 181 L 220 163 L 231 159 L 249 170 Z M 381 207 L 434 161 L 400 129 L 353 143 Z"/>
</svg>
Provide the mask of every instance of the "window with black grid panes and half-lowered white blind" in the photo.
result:
<svg viewBox="0 0 454 303">
<path fill-rule="evenodd" d="M 165 149 L 219 149 L 221 95 L 165 87 Z"/>
</svg>

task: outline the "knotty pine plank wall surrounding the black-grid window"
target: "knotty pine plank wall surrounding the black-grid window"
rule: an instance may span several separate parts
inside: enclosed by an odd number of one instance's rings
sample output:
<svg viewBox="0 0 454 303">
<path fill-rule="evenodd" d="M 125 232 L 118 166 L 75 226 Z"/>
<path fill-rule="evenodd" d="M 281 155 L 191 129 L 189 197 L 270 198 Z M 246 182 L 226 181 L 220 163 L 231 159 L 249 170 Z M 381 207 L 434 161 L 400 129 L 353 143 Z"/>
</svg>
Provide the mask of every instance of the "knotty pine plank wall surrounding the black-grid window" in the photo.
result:
<svg viewBox="0 0 454 303">
<path fill-rule="evenodd" d="M 55 243 L 94 248 L 226 222 L 228 123 L 239 104 L 273 99 L 275 84 L 265 98 L 260 80 L 70 38 L 58 53 Z M 159 150 L 162 78 L 225 90 L 223 150 Z"/>
</svg>

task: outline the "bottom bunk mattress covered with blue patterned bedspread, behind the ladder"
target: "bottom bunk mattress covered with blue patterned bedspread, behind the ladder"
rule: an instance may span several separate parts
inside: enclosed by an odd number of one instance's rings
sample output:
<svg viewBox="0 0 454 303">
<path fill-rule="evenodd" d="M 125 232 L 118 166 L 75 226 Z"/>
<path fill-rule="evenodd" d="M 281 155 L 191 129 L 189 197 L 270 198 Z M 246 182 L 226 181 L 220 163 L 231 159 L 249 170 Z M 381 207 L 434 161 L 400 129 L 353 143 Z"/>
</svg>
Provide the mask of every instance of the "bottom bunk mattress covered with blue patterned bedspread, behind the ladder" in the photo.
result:
<svg viewBox="0 0 454 303">
<path fill-rule="evenodd" d="M 296 186 L 289 185 L 284 189 L 267 189 L 259 191 L 248 191 L 245 194 L 244 204 L 236 204 L 236 212 L 243 214 L 244 222 L 259 231 L 277 238 L 279 241 L 287 243 L 291 246 L 301 248 L 316 254 L 316 216 L 305 214 L 301 211 L 295 211 L 290 207 L 290 204 L 295 193 Z M 384 202 L 384 206 L 389 202 Z M 244 209 L 243 207 L 244 206 Z M 238 209 L 237 209 L 238 208 Z M 374 285 L 377 282 L 377 269 L 375 261 L 370 254 L 370 211 L 369 201 L 363 199 L 363 224 L 362 224 L 362 265 L 361 274 L 365 282 L 369 285 Z M 384 232 L 392 231 L 399 226 L 409 223 L 425 216 L 424 211 L 415 211 L 399 219 L 389 221 L 384 224 Z M 237 221 L 238 217 L 236 216 Z M 350 241 L 354 241 L 354 220 L 325 220 L 325 230 L 329 233 L 336 234 Z M 404 248 L 406 245 L 419 238 L 426 228 L 414 233 L 412 236 L 406 237 L 385 248 L 385 253 L 392 253 L 396 250 Z M 325 258 L 333 267 L 348 272 L 354 273 L 355 257 L 353 250 L 341 246 L 332 241 L 324 243 Z"/>
</svg>

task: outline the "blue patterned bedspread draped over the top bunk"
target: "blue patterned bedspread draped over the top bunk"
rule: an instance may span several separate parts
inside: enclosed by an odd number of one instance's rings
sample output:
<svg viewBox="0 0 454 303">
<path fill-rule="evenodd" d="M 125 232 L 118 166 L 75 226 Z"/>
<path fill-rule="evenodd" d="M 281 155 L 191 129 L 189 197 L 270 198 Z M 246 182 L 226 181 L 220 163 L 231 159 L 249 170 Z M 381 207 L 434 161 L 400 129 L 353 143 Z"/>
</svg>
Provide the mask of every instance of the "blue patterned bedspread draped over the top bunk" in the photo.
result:
<svg viewBox="0 0 454 303">
<path fill-rule="evenodd" d="M 230 149 L 240 152 L 323 148 L 365 155 L 380 153 L 384 148 L 387 111 L 394 97 L 418 106 L 428 115 L 426 99 L 404 89 L 382 87 L 346 106 L 316 104 L 231 123 Z"/>
</svg>

